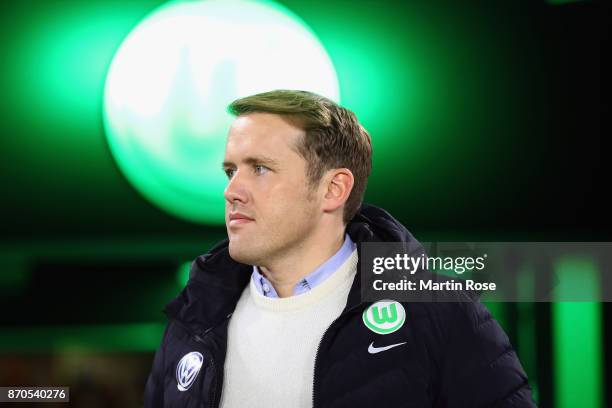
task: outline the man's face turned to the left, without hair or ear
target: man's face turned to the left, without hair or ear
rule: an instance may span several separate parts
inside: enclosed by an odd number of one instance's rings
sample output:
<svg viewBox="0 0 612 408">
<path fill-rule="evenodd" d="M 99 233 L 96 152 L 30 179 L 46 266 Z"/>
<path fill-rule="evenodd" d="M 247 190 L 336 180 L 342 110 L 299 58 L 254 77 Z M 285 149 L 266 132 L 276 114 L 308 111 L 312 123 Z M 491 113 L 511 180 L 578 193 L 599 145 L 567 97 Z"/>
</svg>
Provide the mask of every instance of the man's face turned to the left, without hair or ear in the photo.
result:
<svg viewBox="0 0 612 408">
<path fill-rule="evenodd" d="M 265 265 L 297 249 L 322 212 L 306 161 L 295 146 L 305 131 L 279 115 L 251 113 L 232 124 L 225 148 L 225 223 L 233 259 Z"/>
</svg>

